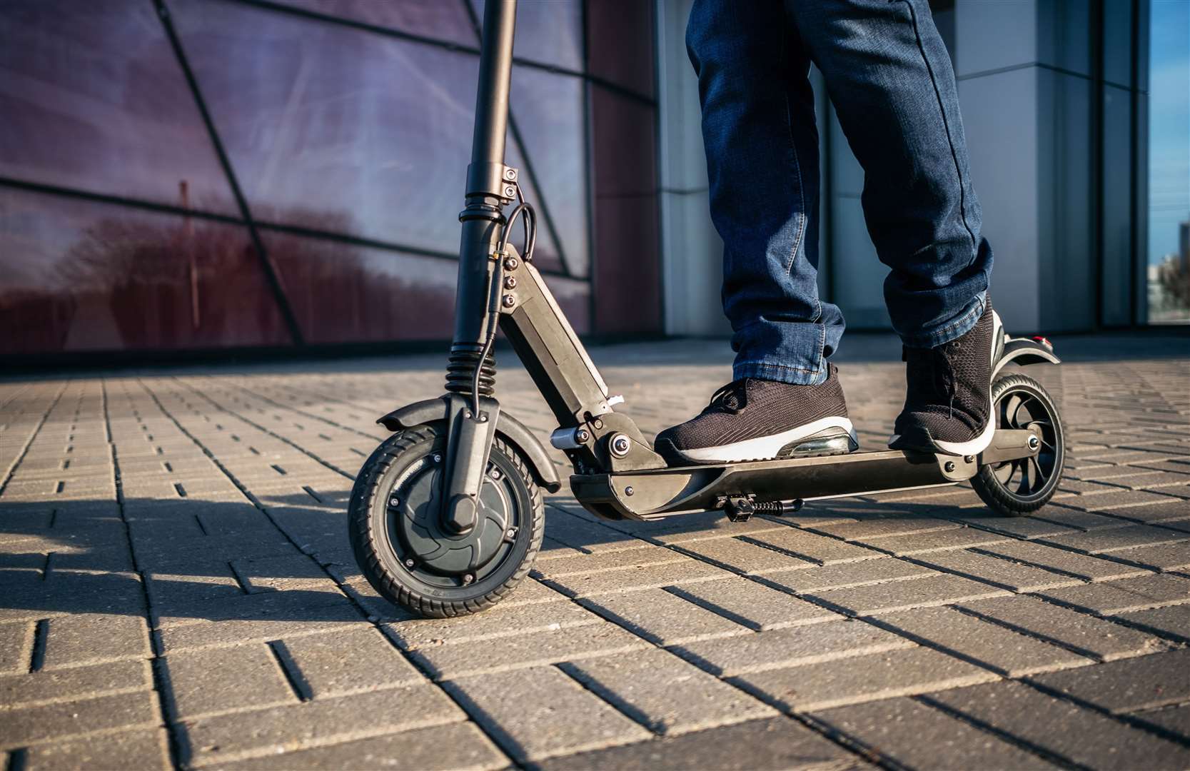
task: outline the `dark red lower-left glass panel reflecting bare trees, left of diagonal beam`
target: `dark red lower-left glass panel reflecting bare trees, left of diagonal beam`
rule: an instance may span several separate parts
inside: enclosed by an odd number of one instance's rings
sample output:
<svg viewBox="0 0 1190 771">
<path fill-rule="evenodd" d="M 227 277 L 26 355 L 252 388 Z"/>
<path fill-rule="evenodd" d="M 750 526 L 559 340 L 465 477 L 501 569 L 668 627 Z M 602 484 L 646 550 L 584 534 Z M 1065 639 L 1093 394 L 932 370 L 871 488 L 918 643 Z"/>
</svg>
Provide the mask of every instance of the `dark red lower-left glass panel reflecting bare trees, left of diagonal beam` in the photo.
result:
<svg viewBox="0 0 1190 771">
<path fill-rule="evenodd" d="M 245 227 L 0 187 L 0 352 L 289 341 Z"/>
</svg>

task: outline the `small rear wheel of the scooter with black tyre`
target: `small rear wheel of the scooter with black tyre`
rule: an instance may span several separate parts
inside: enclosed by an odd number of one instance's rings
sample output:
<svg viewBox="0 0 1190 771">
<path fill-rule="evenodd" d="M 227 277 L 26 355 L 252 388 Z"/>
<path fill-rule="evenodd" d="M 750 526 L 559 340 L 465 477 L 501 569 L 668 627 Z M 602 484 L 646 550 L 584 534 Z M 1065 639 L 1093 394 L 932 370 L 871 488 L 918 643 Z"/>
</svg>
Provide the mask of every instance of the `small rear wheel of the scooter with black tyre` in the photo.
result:
<svg viewBox="0 0 1190 771">
<path fill-rule="evenodd" d="M 1031 514 L 1053 497 L 1066 463 L 1065 431 L 1053 399 L 1027 375 L 1006 375 L 991 384 L 997 428 L 1033 428 L 1041 439 L 1035 458 L 982 466 L 971 487 L 1002 516 Z"/>
</svg>

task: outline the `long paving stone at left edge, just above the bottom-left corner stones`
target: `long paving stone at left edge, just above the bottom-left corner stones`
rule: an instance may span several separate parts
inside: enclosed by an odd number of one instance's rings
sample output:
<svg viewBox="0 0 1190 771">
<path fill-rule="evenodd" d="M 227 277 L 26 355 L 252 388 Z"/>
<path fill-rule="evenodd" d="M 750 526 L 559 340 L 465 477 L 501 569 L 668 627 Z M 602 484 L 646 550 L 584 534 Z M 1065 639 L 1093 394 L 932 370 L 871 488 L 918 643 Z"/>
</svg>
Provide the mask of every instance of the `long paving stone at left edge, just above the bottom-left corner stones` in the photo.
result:
<svg viewBox="0 0 1190 771">
<path fill-rule="evenodd" d="M 13 750 L 98 731 L 156 726 L 159 721 L 157 697 L 144 690 L 8 709 L 0 720 L 0 748 Z"/>
</svg>

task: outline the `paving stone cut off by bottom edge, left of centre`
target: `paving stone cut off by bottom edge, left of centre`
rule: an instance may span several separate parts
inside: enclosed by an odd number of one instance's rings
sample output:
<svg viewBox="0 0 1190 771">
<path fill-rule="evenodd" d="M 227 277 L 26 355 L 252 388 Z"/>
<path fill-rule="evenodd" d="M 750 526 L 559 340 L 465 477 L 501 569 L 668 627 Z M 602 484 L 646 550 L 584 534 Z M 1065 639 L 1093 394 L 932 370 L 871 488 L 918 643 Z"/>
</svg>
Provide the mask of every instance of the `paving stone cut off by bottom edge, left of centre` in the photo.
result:
<svg viewBox="0 0 1190 771">
<path fill-rule="evenodd" d="M 508 765 L 508 758 L 475 723 L 459 722 L 298 750 L 281 756 L 220 763 L 219 767 L 227 771 L 273 771 L 280 767 L 293 771 L 340 771 L 380 769 L 393 765 L 397 759 L 403 769 L 424 771 L 484 771 Z"/>
</svg>

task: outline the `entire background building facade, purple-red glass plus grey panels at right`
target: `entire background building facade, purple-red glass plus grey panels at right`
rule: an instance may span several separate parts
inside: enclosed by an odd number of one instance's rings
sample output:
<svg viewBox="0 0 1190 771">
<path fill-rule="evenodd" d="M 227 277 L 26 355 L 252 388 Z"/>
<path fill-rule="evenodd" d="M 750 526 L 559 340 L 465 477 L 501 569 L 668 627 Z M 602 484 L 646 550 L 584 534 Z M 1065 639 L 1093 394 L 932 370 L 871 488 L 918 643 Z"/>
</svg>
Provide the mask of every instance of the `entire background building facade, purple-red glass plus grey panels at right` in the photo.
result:
<svg viewBox="0 0 1190 771">
<path fill-rule="evenodd" d="M 583 334 L 727 332 L 690 2 L 519 6 L 508 163 Z M 1188 6 L 933 2 L 1012 328 L 1190 316 Z M 482 10 L 0 0 L 0 357 L 447 339 Z M 816 93 L 822 293 L 888 328 Z"/>
</svg>

